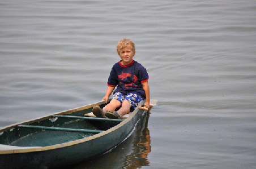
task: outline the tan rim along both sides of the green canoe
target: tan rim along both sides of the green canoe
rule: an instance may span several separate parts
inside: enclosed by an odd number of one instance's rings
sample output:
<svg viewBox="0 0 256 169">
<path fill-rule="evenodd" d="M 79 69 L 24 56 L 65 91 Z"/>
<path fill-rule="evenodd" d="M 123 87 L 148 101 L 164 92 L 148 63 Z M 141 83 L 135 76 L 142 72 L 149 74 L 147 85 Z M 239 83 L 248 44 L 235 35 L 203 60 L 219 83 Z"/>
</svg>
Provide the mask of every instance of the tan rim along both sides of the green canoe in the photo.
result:
<svg viewBox="0 0 256 169">
<path fill-rule="evenodd" d="M 6 130 L 10 130 L 11 128 L 14 128 L 14 127 L 18 126 L 19 124 L 30 124 L 30 123 L 33 123 L 33 122 L 39 122 L 39 121 L 42 121 L 42 120 L 45 120 L 45 119 L 49 119 L 53 115 L 71 114 L 71 113 L 78 112 L 80 110 L 84 110 L 84 109 L 88 109 L 88 108 L 92 108 L 95 105 L 101 105 L 101 104 L 104 104 L 104 103 L 105 103 L 105 101 L 99 101 L 99 102 L 94 103 L 94 104 L 82 106 L 82 107 L 75 108 L 75 109 L 66 110 L 65 112 L 54 113 L 54 114 L 46 115 L 46 116 L 41 117 L 41 118 L 32 119 L 30 121 L 11 124 L 10 126 L 0 128 L 0 133 L 3 132 L 3 131 L 6 131 Z M 133 113 L 131 113 L 131 115 L 127 119 L 123 120 L 122 122 L 120 122 L 116 126 L 114 126 L 112 128 L 109 128 L 109 130 L 100 132 L 99 134 L 96 134 L 96 135 L 93 135 L 93 136 L 90 136 L 90 137 L 86 137 L 84 139 L 70 141 L 70 142 L 67 142 L 67 143 L 50 145 L 50 146 L 42 146 L 42 147 L 31 146 L 31 147 L 25 147 L 24 148 L 22 146 L 20 146 L 20 147 L 16 146 L 15 149 L 13 149 L 13 148 L 11 149 L 11 147 L 10 147 L 10 149 L 8 149 L 8 146 L 10 146 L 10 145 L 7 145 L 6 146 L 7 150 L 0 150 L 0 154 L 29 153 L 29 152 L 40 152 L 40 151 L 46 151 L 46 150 L 53 150 L 53 149 L 64 148 L 66 146 L 77 145 L 77 144 L 84 143 L 84 142 L 89 141 L 89 140 L 97 139 L 101 136 L 108 135 L 110 132 L 113 132 L 113 131 L 117 130 L 118 128 L 124 126 L 125 124 L 129 123 L 131 121 L 131 119 L 134 118 L 135 114 L 139 112 L 139 110 L 140 110 L 139 106 L 142 106 L 143 104 L 144 104 L 144 101 L 141 101 L 140 104 L 138 105 L 138 107 L 133 111 Z"/>
</svg>

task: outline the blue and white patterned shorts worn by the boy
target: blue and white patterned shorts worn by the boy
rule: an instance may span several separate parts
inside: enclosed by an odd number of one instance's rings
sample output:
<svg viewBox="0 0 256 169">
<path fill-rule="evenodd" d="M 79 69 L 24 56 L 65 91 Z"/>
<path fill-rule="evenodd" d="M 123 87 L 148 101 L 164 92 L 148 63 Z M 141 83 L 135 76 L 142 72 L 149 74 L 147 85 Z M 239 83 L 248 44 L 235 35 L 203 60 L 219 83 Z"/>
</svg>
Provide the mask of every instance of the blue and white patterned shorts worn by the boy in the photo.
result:
<svg viewBox="0 0 256 169">
<path fill-rule="evenodd" d="M 116 92 L 116 94 L 113 95 L 112 99 L 117 99 L 121 103 L 123 103 L 123 101 L 127 100 L 127 101 L 129 101 L 131 106 L 134 107 L 134 109 L 136 108 L 136 106 L 139 105 L 140 101 L 143 100 L 142 97 L 140 97 L 137 94 L 134 94 L 133 92 L 130 92 L 126 96 L 121 94 L 121 92 Z"/>
</svg>

